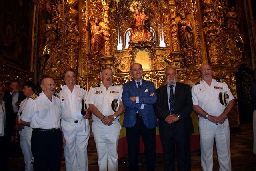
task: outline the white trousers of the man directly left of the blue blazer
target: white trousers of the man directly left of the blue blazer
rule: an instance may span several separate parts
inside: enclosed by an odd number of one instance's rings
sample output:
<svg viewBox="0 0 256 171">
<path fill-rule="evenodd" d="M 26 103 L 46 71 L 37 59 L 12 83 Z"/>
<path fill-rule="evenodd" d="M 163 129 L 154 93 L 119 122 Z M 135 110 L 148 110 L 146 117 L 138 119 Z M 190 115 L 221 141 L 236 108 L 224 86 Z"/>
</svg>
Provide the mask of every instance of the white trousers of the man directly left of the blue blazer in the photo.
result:
<svg viewBox="0 0 256 171">
<path fill-rule="evenodd" d="M 92 123 L 92 133 L 97 147 L 99 171 L 118 170 L 118 140 L 121 125 L 118 120 L 106 126 L 101 122 Z"/>
</svg>

